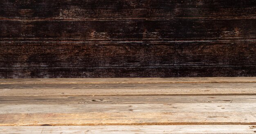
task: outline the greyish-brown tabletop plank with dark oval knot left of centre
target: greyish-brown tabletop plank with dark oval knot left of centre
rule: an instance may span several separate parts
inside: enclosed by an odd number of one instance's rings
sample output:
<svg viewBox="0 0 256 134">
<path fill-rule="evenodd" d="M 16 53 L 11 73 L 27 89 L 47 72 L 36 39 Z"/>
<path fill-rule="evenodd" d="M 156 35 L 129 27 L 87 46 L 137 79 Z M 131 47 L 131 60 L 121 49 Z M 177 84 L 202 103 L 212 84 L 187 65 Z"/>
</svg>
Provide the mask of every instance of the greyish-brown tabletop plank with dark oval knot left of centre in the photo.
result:
<svg viewBox="0 0 256 134">
<path fill-rule="evenodd" d="M 256 96 L 0 96 L 0 104 L 255 103 Z"/>
</svg>

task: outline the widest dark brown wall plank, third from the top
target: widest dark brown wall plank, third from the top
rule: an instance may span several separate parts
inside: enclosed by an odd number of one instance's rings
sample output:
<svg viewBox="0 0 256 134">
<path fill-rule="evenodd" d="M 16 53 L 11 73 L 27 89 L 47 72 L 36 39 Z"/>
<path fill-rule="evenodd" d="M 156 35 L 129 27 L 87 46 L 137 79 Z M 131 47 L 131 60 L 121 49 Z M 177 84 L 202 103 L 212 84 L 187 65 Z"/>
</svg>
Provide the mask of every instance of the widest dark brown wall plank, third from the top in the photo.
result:
<svg viewBox="0 0 256 134">
<path fill-rule="evenodd" d="M 0 42 L 0 67 L 256 65 L 256 40 Z M 199 67 L 200 68 L 200 67 Z"/>
</svg>

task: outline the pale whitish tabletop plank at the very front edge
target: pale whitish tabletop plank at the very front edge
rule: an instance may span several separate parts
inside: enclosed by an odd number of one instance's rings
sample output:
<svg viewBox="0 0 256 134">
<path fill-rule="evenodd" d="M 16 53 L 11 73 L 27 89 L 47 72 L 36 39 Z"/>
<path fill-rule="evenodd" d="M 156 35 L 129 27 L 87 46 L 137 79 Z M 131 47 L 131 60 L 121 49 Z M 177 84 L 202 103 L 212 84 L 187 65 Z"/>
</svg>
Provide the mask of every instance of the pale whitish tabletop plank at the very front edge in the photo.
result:
<svg viewBox="0 0 256 134">
<path fill-rule="evenodd" d="M 0 134 L 255 134 L 254 125 L 14 126 Z"/>
</svg>

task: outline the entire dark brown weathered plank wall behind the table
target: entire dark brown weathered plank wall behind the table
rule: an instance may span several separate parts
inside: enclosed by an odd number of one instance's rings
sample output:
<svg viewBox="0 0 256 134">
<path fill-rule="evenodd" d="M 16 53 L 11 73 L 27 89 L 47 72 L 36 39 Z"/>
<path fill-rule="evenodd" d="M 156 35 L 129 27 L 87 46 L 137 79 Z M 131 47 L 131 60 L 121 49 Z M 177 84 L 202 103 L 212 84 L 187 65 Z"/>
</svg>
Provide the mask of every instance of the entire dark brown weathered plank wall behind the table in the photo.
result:
<svg viewBox="0 0 256 134">
<path fill-rule="evenodd" d="M 0 78 L 256 76 L 256 0 L 0 0 Z"/>
</svg>

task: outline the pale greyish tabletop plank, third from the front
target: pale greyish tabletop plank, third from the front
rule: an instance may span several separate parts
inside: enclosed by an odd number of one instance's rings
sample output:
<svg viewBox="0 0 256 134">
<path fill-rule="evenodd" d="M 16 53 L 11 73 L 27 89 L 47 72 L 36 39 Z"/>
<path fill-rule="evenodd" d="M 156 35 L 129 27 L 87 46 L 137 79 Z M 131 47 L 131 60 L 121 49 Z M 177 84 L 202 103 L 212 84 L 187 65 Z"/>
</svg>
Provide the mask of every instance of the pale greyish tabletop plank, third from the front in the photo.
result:
<svg viewBox="0 0 256 134">
<path fill-rule="evenodd" d="M 172 103 L 172 104 L 0 104 L 0 114 L 80 114 L 80 113 L 254 113 L 256 103 Z M 11 110 L 10 110 L 11 109 Z M 229 117 L 227 117 L 229 118 Z M 227 119 L 227 122 L 230 119 Z M 254 120 L 256 122 L 256 119 Z"/>
</svg>

